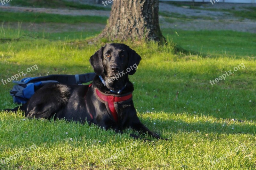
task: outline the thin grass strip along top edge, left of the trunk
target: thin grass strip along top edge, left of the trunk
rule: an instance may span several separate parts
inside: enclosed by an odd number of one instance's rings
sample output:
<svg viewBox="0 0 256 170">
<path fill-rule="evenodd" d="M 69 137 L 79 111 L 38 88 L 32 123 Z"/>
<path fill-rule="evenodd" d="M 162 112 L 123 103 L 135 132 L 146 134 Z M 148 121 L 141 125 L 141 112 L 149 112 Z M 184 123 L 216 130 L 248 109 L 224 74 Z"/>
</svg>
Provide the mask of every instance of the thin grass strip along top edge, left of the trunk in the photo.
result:
<svg viewBox="0 0 256 170">
<path fill-rule="evenodd" d="M 71 8 L 79 10 L 104 10 L 110 11 L 110 7 L 101 7 L 90 4 L 79 4 L 63 0 L 15 0 L 10 1 L 11 5 L 28 6 L 28 7 L 44 7 L 44 8 Z"/>
</svg>

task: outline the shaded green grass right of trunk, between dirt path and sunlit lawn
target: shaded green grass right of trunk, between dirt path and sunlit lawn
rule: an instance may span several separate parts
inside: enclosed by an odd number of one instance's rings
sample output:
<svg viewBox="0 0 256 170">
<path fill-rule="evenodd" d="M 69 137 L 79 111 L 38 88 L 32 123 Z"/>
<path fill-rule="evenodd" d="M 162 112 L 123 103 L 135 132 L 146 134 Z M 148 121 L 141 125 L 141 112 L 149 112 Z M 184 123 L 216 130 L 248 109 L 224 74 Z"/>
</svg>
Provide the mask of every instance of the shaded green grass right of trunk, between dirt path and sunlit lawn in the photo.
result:
<svg viewBox="0 0 256 170">
<path fill-rule="evenodd" d="M 232 58 L 255 57 L 256 37 L 253 33 L 234 31 L 183 31 L 163 29 L 173 41 L 188 51 L 210 56 Z M 177 33 L 176 33 L 177 32 Z"/>
</svg>

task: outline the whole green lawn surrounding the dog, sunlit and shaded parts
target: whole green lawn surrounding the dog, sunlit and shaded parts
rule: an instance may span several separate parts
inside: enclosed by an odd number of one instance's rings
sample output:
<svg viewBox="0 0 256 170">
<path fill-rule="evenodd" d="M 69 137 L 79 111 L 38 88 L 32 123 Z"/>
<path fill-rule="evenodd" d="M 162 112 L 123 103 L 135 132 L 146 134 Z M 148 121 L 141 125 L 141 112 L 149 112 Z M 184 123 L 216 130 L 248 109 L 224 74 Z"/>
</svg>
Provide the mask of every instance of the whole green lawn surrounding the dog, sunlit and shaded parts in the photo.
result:
<svg viewBox="0 0 256 170">
<path fill-rule="evenodd" d="M 65 22 L 72 23 L 74 18 Z M 125 43 L 142 57 L 136 74 L 130 76 L 138 116 L 150 130 L 170 140 L 144 142 L 130 138 L 129 133 L 136 133 L 131 129 L 121 135 L 88 124 L 28 119 L 20 112 L 0 111 L 0 168 L 255 169 L 255 34 L 163 32 L 169 39 L 164 46 Z M 104 43 L 70 42 L 97 33 L 1 27 L 0 80 L 35 64 L 38 70 L 27 77 L 92 72 L 89 58 Z M 17 40 L 23 35 L 38 38 Z M 229 70 L 234 73 L 211 85 L 210 80 Z M 17 106 L 9 95 L 13 84 L 0 86 L 0 109 Z"/>
</svg>

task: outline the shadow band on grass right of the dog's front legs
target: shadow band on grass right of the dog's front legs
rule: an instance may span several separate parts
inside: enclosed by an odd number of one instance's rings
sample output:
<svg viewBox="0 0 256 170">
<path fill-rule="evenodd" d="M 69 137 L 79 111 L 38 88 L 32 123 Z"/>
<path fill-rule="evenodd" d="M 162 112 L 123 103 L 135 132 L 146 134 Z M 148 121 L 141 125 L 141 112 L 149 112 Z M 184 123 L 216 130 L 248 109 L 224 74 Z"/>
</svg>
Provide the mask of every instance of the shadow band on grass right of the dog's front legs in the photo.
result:
<svg viewBox="0 0 256 170">
<path fill-rule="evenodd" d="M 145 113 L 148 114 L 148 113 Z M 178 117 L 178 116 L 177 116 Z M 197 122 L 186 122 L 181 119 L 169 119 L 169 120 L 159 120 L 156 119 L 154 122 L 155 126 L 152 126 L 151 121 L 148 118 L 140 118 L 140 120 L 145 124 L 149 129 L 155 129 L 155 132 L 160 133 L 164 130 L 165 133 L 175 133 L 178 134 L 180 132 L 184 133 L 214 133 L 214 134 L 250 134 L 255 135 L 256 125 L 252 124 L 249 121 L 240 122 L 238 120 L 229 120 L 229 119 L 218 119 L 215 121 L 202 121 L 199 120 Z M 164 136 L 166 138 L 166 136 Z"/>
</svg>

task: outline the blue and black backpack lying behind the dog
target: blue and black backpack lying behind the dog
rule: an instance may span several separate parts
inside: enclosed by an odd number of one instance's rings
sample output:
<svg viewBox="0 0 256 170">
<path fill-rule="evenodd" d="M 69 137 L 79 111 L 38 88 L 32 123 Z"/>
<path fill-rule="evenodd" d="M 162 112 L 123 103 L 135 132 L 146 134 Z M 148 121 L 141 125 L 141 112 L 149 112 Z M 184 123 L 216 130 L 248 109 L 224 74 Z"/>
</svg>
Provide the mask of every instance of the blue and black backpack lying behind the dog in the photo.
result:
<svg viewBox="0 0 256 170">
<path fill-rule="evenodd" d="M 14 85 L 10 91 L 13 102 L 18 104 L 27 103 L 34 95 L 35 91 L 47 83 L 64 83 L 68 85 L 82 84 L 93 80 L 95 73 L 76 74 L 76 75 L 48 75 L 44 77 L 28 77 L 21 81 L 13 81 Z"/>
</svg>

